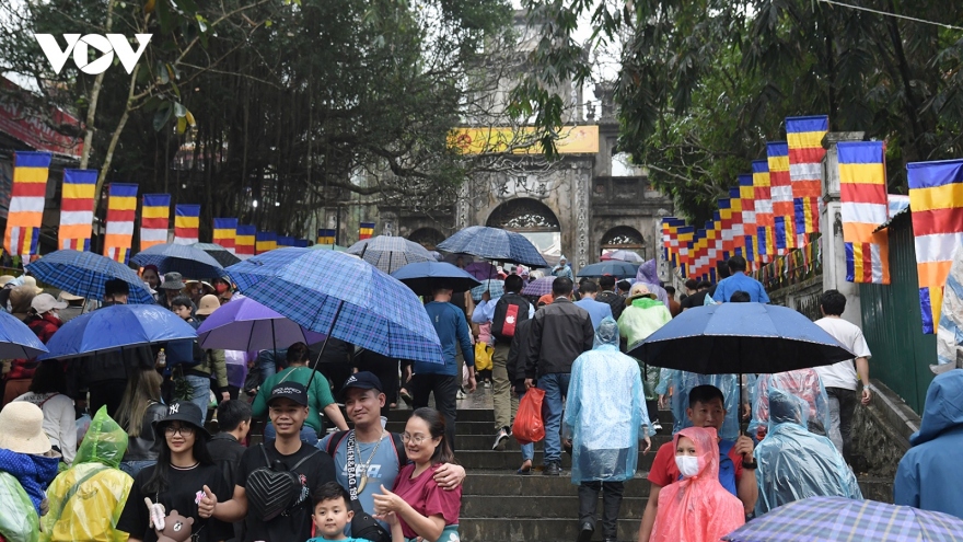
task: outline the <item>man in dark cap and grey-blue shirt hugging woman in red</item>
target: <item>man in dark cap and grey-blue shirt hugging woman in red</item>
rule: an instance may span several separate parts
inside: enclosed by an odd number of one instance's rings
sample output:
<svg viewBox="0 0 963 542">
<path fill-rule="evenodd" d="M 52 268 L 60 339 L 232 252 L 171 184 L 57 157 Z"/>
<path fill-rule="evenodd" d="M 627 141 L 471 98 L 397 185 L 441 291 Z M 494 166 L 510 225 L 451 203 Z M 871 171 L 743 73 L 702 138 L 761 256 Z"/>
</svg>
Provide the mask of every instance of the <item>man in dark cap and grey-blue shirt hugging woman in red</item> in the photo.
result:
<svg viewBox="0 0 963 542">
<path fill-rule="evenodd" d="M 381 486 L 394 487 L 398 472 L 408 463 L 405 446 L 401 435 L 386 431 L 381 424 L 381 407 L 386 397 L 381 380 L 374 373 L 361 371 L 352 374 L 341 388 L 341 399 L 355 429 L 328 435 L 317 443 L 317 448 L 334 452 L 332 457 L 338 483 L 347 489 L 348 437 L 353 434 L 355 482 L 356 487 L 360 487 L 358 499 L 366 511 L 373 512 L 373 495 L 381 492 Z M 362 480 L 367 481 L 363 486 Z M 445 463 L 434 473 L 434 482 L 446 491 L 459 487 L 464 480 L 465 469 L 456 464 Z M 390 530 L 387 524 L 382 526 Z"/>
</svg>

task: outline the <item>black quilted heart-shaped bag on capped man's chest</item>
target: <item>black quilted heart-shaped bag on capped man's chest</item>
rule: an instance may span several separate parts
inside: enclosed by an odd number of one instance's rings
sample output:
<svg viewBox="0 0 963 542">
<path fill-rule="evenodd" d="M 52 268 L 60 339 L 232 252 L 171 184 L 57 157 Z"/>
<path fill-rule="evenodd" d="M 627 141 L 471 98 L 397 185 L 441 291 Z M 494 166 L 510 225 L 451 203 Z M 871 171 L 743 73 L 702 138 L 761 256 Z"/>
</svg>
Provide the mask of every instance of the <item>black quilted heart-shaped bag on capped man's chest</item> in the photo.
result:
<svg viewBox="0 0 963 542">
<path fill-rule="evenodd" d="M 267 457 L 264 445 L 260 445 L 260 453 L 267 466 L 255 469 L 247 475 L 245 491 L 251 512 L 260 521 L 270 521 L 301 503 L 301 477 L 294 471 L 305 461 L 320 453 L 315 449 L 308 455 L 294 463 L 287 471 L 280 470 L 279 461 L 271 464 Z"/>
</svg>

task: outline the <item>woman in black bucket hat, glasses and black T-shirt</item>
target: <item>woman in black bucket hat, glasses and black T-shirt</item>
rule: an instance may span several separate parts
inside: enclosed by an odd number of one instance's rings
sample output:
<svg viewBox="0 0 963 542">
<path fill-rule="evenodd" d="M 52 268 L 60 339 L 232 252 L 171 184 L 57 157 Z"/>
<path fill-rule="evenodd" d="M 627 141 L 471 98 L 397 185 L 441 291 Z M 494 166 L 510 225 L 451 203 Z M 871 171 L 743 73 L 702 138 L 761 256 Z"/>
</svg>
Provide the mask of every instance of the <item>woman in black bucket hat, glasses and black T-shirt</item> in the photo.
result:
<svg viewBox="0 0 963 542">
<path fill-rule="evenodd" d="M 217 519 L 202 519 L 197 505 L 208 493 L 219 500 L 231 498 L 219 466 L 207 450 L 210 434 L 199 426 L 200 410 L 194 403 L 172 403 L 167 414 L 153 426 L 154 434 L 163 443 L 158 463 L 140 471 L 117 521 L 117 530 L 130 534 L 130 542 L 155 542 L 158 533 L 152 514 L 154 504 L 164 507 L 164 515 L 174 510 L 185 518 L 194 518 L 190 524 L 194 542 L 228 540 L 234 528 Z"/>
</svg>

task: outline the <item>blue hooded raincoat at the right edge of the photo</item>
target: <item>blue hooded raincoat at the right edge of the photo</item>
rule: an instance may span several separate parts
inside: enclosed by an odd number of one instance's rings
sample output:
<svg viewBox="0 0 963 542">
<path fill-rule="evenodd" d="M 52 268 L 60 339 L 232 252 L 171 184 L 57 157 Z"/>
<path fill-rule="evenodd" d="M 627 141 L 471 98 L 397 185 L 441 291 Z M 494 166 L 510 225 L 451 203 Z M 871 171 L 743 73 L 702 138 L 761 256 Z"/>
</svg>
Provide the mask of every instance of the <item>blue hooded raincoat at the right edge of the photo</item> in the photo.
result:
<svg viewBox="0 0 963 542">
<path fill-rule="evenodd" d="M 919 430 L 896 470 L 893 500 L 963 519 L 963 369 L 935 378 L 926 392 Z"/>
</svg>

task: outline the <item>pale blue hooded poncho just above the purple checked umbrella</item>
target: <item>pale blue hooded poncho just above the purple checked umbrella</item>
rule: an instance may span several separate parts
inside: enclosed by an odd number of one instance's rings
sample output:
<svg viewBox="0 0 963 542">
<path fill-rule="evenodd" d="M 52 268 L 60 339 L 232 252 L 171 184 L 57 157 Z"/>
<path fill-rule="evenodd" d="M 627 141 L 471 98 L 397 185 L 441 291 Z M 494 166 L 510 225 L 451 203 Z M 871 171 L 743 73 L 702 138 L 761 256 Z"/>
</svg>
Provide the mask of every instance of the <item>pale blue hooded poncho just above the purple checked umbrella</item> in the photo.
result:
<svg viewBox="0 0 963 542">
<path fill-rule="evenodd" d="M 769 433 L 756 447 L 756 514 L 807 497 L 862 499 L 852 471 L 833 442 L 807 430 L 807 404 L 769 390 Z"/>
</svg>

